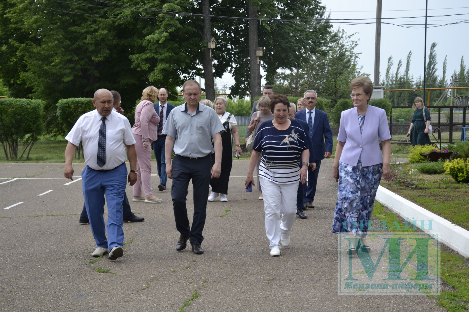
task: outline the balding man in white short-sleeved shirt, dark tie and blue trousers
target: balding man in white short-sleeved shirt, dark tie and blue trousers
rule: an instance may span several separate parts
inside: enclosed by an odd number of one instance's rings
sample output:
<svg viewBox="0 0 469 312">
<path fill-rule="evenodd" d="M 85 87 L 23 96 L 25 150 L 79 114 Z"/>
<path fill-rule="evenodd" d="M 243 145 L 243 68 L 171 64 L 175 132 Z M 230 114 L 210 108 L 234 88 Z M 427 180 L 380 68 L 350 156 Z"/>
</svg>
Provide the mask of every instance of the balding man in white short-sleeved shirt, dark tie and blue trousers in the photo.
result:
<svg viewBox="0 0 469 312">
<path fill-rule="evenodd" d="M 64 176 L 73 180 L 72 160 L 81 141 L 86 164 L 81 174 L 83 197 L 97 247 L 93 256 L 110 250 L 109 259 L 115 260 L 123 254 L 122 202 L 126 181 L 132 186 L 137 180 L 135 139 L 127 117 L 113 111 L 113 95 L 109 90 L 96 91 L 93 105 L 96 110 L 80 116 L 65 137 L 68 144 Z M 127 158 L 129 176 L 125 165 Z M 106 227 L 103 216 L 105 194 L 108 209 Z"/>
</svg>

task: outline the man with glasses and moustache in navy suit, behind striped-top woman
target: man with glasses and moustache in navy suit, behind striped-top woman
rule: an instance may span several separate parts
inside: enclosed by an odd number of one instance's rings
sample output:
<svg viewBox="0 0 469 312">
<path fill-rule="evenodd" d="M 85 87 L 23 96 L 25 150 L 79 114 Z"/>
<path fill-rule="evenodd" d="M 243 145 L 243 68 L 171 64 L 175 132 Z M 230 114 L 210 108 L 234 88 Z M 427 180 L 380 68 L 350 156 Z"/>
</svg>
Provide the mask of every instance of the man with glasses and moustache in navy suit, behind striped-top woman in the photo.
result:
<svg viewBox="0 0 469 312">
<path fill-rule="evenodd" d="M 295 119 L 308 123 L 309 133 L 307 135 L 311 138 L 312 145 L 314 145 L 314 158 L 316 162 L 316 170 L 312 171 L 311 167 L 308 168 L 308 187 L 303 196 L 304 209 L 314 207 L 314 195 L 316 194 L 321 160 L 331 157 L 333 144 L 329 118 L 327 118 L 325 112 L 315 107 L 318 102 L 318 93 L 315 90 L 308 90 L 304 93 L 303 97 L 306 108 L 296 112 Z"/>
</svg>

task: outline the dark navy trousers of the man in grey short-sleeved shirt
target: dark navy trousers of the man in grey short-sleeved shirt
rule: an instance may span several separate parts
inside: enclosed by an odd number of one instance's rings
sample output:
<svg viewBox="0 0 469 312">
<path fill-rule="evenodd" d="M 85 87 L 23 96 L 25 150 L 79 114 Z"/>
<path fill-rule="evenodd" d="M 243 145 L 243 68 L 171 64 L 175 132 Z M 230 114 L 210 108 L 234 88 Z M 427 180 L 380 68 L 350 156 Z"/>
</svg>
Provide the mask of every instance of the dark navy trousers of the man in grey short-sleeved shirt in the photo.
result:
<svg viewBox="0 0 469 312">
<path fill-rule="evenodd" d="M 195 160 L 176 155 L 173 159 L 171 197 L 173 197 L 174 220 L 176 221 L 176 229 L 182 235 L 189 236 L 190 234 L 191 245 L 200 245 L 204 240 L 202 231 L 207 216 L 207 197 L 211 169 L 212 160 L 210 155 Z M 186 196 L 191 179 L 194 188 L 194 216 L 192 226 L 189 227 Z"/>
</svg>

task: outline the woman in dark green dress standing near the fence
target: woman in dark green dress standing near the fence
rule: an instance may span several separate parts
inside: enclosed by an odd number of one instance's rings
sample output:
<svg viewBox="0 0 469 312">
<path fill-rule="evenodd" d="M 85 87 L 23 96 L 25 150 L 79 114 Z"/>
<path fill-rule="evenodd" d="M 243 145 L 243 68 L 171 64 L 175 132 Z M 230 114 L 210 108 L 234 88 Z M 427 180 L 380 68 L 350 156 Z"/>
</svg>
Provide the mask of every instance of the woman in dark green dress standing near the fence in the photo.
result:
<svg viewBox="0 0 469 312">
<path fill-rule="evenodd" d="M 416 97 L 414 100 L 414 116 L 412 117 L 412 123 L 410 123 L 409 131 L 407 136 L 410 136 L 410 142 L 412 146 L 429 144 L 430 137 L 428 136 L 428 127 L 430 126 L 430 111 L 425 109 L 424 100 L 421 97 Z M 424 112 L 427 122 L 424 121 Z"/>
</svg>

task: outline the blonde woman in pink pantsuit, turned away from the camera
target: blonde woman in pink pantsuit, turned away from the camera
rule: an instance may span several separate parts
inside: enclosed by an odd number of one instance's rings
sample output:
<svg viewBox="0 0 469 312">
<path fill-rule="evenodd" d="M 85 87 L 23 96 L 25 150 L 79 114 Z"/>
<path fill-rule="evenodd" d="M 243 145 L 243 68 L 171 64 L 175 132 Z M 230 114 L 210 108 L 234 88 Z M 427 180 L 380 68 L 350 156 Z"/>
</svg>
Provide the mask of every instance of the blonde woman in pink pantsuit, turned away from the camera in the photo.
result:
<svg viewBox="0 0 469 312">
<path fill-rule="evenodd" d="M 142 92 L 142 102 L 135 109 L 135 124 L 132 133 L 137 152 L 137 182 L 134 185 L 134 202 L 161 203 L 151 189 L 151 143 L 158 138 L 159 115 L 153 107 L 158 99 L 158 89 L 150 86 Z M 142 186 L 144 196 L 142 196 Z"/>
</svg>

